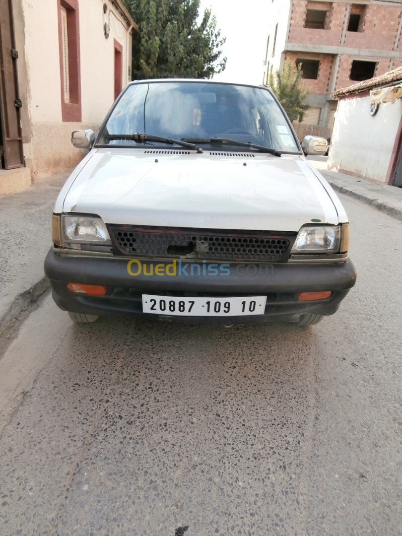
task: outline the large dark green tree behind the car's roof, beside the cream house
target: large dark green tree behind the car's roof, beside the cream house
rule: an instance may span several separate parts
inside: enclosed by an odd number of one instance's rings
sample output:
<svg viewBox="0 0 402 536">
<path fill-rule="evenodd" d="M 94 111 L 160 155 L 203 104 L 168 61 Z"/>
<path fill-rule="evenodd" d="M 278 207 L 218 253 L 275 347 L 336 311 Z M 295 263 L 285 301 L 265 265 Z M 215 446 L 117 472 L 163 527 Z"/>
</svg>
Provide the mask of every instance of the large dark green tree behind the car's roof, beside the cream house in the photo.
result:
<svg viewBox="0 0 402 536">
<path fill-rule="evenodd" d="M 132 79 L 211 78 L 225 69 L 217 21 L 199 0 L 124 0 L 140 34 L 133 34 Z"/>
</svg>

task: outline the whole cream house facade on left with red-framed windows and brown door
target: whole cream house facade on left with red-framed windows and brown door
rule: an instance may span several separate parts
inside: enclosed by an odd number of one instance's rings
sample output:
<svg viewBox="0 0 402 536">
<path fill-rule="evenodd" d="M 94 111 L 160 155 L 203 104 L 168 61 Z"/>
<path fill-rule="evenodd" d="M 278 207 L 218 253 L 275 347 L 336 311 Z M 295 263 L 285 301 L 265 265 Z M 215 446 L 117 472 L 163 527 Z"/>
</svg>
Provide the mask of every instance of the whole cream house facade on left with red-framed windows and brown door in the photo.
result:
<svg viewBox="0 0 402 536">
<path fill-rule="evenodd" d="M 121 0 L 0 0 L 0 10 L 0 193 L 8 193 L 83 157 L 71 132 L 98 128 L 131 80 L 138 27 Z"/>
</svg>

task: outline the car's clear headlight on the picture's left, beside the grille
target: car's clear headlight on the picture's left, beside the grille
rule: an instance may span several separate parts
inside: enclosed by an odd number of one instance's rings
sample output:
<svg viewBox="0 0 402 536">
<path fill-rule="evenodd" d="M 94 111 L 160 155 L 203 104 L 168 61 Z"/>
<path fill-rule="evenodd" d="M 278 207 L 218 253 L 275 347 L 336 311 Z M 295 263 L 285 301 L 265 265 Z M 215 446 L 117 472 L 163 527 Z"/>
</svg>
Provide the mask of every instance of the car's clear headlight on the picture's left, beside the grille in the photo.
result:
<svg viewBox="0 0 402 536">
<path fill-rule="evenodd" d="M 102 218 L 94 216 L 62 216 L 63 242 L 95 242 L 111 244 L 110 236 Z"/>
</svg>

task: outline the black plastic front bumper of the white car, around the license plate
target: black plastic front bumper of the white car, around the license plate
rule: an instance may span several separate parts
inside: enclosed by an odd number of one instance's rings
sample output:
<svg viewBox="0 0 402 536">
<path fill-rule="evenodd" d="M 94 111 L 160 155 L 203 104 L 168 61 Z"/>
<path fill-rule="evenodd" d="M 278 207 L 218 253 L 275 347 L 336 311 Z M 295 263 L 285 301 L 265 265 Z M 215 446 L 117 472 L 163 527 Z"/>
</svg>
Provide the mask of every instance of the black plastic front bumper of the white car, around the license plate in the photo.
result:
<svg viewBox="0 0 402 536">
<path fill-rule="evenodd" d="M 144 275 L 151 273 L 151 265 L 172 265 L 172 261 L 144 261 L 142 273 L 131 276 L 129 258 L 62 256 L 50 249 L 44 262 L 44 271 L 50 279 L 53 298 L 64 310 L 92 315 L 137 314 L 170 320 L 207 323 L 228 323 L 227 317 L 173 317 L 146 314 L 142 308 L 142 294 L 166 296 L 255 296 L 266 295 L 266 307 L 261 316 L 230 317 L 230 323 L 258 322 L 282 319 L 297 321 L 304 313 L 332 315 L 356 280 L 351 260 L 342 264 L 225 264 L 230 275 L 186 275 L 176 269 L 175 275 Z M 190 265 L 191 266 L 191 265 Z M 215 265 L 216 266 L 216 265 Z M 166 270 L 160 270 L 166 273 Z M 172 270 L 170 270 L 172 273 Z M 196 271 L 194 271 L 196 273 Z M 204 272 L 205 273 L 205 272 Z M 69 282 L 104 285 L 107 294 L 90 296 L 69 291 Z M 332 291 L 326 300 L 300 302 L 299 292 Z"/>
</svg>

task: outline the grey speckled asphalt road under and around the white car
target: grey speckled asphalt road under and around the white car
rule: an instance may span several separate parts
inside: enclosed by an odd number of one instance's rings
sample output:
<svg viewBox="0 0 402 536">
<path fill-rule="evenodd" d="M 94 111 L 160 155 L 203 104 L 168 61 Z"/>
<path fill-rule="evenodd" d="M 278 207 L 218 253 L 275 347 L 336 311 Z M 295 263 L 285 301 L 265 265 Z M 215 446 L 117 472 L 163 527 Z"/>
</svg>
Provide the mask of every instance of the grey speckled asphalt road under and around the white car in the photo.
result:
<svg viewBox="0 0 402 536">
<path fill-rule="evenodd" d="M 343 201 L 358 284 L 304 331 L 47 297 L 0 360 L 0 534 L 401 534 L 402 223 Z"/>
</svg>

